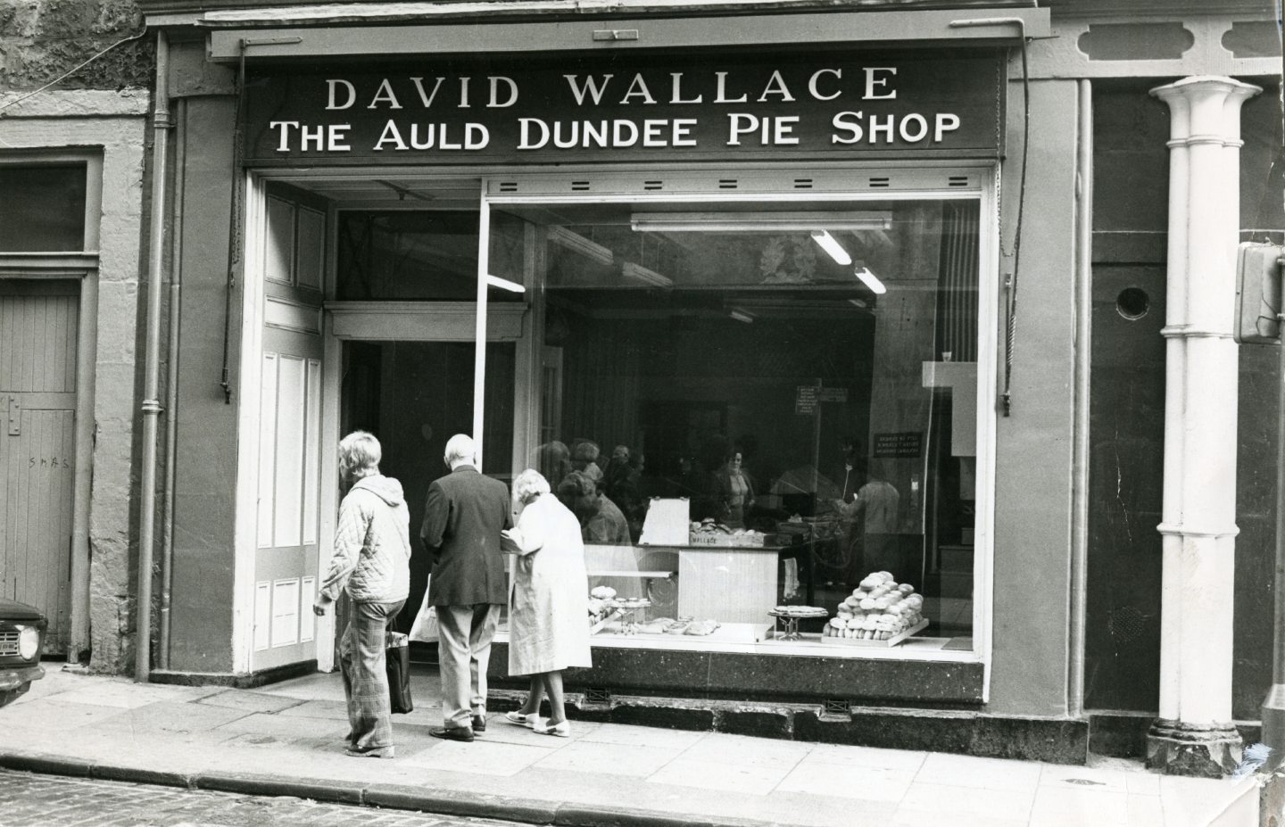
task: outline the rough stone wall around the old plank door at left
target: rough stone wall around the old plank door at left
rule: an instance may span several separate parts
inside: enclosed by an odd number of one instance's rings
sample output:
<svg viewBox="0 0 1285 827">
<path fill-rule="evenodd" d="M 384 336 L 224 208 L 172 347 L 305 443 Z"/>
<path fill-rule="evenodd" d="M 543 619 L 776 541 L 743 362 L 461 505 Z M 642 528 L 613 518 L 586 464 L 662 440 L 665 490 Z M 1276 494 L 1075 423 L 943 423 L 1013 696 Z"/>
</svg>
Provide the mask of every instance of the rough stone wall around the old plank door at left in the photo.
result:
<svg viewBox="0 0 1285 827">
<path fill-rule="evenodd" d="M 99 268 L 90 276 L 99 295 L 98 353 L 94 365 L 81 366 L 94 371 L 95 385 L 89 652 L 68 654 L 87 654 L 94 670 L 112 673 L 130 669 L 134 650 L 136 397 L 154 51 L 155 37 L 130 0 L 0 0 L 0 153 L 102 159 Z M 30 92 L 36 94 L 24 96 Z"/>
</svg>

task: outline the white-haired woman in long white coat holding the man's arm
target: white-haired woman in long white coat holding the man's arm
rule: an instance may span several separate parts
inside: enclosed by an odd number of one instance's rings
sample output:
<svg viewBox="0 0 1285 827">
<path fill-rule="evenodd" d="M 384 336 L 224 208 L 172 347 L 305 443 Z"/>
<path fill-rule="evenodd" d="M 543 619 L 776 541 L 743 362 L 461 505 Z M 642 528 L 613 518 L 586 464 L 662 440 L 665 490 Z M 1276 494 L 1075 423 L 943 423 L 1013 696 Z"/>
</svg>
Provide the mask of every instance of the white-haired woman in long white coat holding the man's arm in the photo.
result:
<svg viewBox="0 0 1285 827">
<path fill-rule="evenodd" d="M 513 482 L 517 525 L 502 533 L 502 548 L 517 555 L 509 591 L 509 674 L 531 675 L 520 710 L 505 717 L 541 735 L 567 737 L 562 673 L 590 666 L 589 577 L 580 520 L 549 493 L 549 480 L 526 470 Z M 550 715 L 540 722 L 549 695 Z"/>
</svg>

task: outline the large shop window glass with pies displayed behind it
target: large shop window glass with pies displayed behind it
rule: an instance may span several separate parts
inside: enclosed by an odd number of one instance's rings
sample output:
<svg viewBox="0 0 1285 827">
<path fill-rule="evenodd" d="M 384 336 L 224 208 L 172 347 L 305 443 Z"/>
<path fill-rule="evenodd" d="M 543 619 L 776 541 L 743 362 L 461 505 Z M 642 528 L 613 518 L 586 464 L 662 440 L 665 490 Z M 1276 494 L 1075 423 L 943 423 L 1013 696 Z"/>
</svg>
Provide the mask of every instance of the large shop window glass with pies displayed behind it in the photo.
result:
<svg viewBox="0 0 1285 827">
<path fill-rule="evenodd" d="M 490 272 L 541 288 L 528 462 L 581 519 L 596 643 L 973 650 L 975 198 L 491 226 Z"/>
</svg>

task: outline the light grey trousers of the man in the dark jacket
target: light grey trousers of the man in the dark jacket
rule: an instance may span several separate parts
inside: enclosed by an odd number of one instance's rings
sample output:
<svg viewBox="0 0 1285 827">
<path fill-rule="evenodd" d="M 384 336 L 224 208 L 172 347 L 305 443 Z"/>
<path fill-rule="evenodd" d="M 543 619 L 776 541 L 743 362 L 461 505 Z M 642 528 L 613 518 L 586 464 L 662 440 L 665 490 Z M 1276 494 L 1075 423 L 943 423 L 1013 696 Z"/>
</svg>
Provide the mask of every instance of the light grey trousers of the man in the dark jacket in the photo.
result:
<svg viewBox="0 0 1285 827">
<path fill-rule="evenodd" d="M 473 715 L 486 711 L 486 669 L 500 609 L 493 604 L 437 607 L 442 726 L 447 729 L 472 727 Z"/>
</svg>

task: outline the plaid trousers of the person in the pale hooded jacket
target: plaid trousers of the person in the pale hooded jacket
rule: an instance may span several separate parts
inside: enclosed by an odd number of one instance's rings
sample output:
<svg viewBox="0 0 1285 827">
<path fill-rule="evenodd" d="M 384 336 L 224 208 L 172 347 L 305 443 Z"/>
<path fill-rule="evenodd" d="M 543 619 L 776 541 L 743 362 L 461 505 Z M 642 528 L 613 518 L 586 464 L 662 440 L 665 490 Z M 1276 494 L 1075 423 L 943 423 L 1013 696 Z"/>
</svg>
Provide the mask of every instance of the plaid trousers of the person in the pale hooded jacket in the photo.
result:
<svg viewBox="0 0 1285 827">
<path fill-rule="evenodd" d="M 393 742 L 384 636 L 403 602 L 352 601 L 348 625 L 339 640 L 343 696 L 348 702 L 348 744 L 362 753 Z"/>
</svg>

